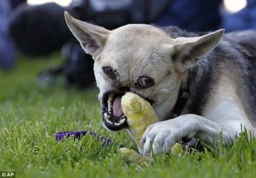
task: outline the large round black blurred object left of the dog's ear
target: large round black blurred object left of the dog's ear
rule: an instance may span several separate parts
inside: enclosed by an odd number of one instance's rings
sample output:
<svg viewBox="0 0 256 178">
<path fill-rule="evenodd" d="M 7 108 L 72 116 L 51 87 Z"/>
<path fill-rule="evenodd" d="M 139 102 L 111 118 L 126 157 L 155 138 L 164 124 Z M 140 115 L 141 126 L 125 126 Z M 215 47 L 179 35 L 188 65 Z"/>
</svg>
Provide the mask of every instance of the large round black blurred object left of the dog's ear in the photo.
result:
<svg viewBox="0 0 256 178">
<path fill-rule="evenodd" d="M 9 29 L 16 48 L 32 57 L 60 49 L 72 37 L 63 13 L 55 3 L 18 6 L 11 15 Z"/>
</svg>

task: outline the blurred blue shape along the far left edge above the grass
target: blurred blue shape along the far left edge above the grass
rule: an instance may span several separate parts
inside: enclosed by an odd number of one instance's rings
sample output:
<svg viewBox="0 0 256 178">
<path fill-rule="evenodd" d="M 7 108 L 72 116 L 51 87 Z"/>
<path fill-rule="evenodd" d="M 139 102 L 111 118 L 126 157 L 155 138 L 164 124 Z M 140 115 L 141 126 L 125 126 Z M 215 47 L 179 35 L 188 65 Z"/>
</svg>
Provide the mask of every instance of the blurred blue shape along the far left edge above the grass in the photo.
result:
<svg viewBox="0 0 256 178">
<path fill-rule="evenodd" d="M 11 13 L 9 0 L 0 1 L 0 69 L 11 69 L 15 64 L 14 52 L 8 37 L 8 17 Z"/>
</svg>

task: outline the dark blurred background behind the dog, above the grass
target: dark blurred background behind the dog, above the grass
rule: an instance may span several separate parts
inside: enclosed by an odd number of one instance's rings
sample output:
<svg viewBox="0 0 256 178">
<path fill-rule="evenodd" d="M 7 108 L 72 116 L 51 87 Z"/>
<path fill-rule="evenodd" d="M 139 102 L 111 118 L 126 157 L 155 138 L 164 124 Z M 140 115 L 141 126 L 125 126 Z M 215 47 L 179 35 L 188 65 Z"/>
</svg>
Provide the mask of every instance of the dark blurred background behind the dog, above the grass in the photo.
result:
<svg viewBox="0 0 256 178">
<path fill-rule="evenodd" d="M 27 63 L 46 61 L 36 74 L 39 82 L 94 86 L 93 59 L 66 26 L 64 10 L 107 29 L 143 23 L 187 31 L 256 30 L 254 0 L 1 0 L 0 72 L 15 70 L 22 55 Z M 56 51 L 54 65 L 46 65 Z"/>
</svg>

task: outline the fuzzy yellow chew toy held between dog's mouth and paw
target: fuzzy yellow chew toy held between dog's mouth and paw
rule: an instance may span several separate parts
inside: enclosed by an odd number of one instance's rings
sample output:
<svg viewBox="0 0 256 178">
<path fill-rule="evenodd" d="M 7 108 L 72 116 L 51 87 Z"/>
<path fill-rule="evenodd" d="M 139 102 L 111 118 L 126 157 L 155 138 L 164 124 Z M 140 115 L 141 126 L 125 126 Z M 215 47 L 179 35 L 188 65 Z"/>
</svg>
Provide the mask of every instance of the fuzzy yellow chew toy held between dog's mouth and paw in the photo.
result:
<svg viewBox="0 0 256 178">
<path fill-rule="evenodd" d="M 155 110 L 146 100 L 134 93 L 126 93 L 121 99 L 121 106 L 124 115 L 127 117 L 128 128 L 127 131 L 134 138 L 137 143 L 139 152 L 143 152 L 143 145 L 140 146 L 140 139 L 150 124 L 158 122 Z M 123 154 L 124 159 L 133 163 L 140 163 L 145 159 L 136 151 L 121 148 L 119 150 Z M 172 147 L 171 153 L 177 154 L 182 151 L 178 144 Z"/>
</svg>

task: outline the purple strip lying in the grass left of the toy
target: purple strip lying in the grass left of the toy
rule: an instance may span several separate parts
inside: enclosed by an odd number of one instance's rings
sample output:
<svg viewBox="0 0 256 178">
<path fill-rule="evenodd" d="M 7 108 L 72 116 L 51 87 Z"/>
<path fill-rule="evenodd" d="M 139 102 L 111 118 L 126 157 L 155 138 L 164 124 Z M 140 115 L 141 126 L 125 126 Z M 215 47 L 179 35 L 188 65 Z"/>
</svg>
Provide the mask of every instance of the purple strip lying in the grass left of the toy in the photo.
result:
<svg viewBox="0 0 256 178">
<path fill-rule="evenodd" d="M 87 131 L 87 130 L 81 130 L 81 131 L 61 131 L 56 133 L 55 138 L 56 141 L 59 142 L 61 141 L 63 138 L 69 138 L 72 135 L 74 135 L 74 139 L 81 139 L 81 137 L 85 136 L 87 133 L 90 133 L 93 137 L 97 136 L 97 133 L 94 131 Z M 107 139 L 103 136 L 97 136 L 98 139 L 100 139 L 101 141 L 104 140 L 102 146 L 108 146 L 110 143 L 113 143 L 110 139 Z"/>
</svg>

